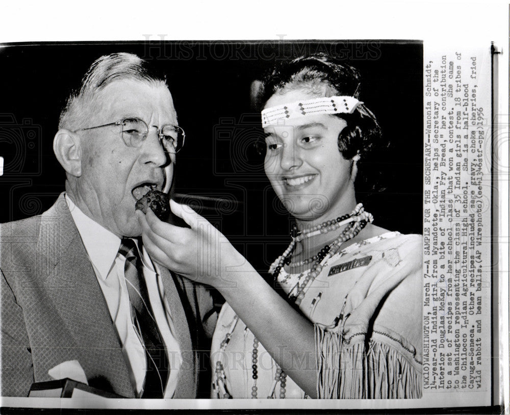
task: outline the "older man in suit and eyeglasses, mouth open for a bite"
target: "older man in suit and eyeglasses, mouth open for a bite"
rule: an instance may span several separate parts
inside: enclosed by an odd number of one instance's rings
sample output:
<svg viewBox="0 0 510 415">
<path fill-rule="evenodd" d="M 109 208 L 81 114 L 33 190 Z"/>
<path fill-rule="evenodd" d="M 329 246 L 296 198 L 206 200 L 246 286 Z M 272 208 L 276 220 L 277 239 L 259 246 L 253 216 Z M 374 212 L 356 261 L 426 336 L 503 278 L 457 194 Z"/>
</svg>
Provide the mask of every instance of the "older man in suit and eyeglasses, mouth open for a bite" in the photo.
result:
<svg viewBox="0 0 510 415">
<path fill-rule="evenodd" d="M 183 144 L 164 77 L 147 62 L 92 64 L 54 140 L 65 193 L 1 228 L 2 396 L 71 377 L 129 398 L 196 397 L 211 297 L 151 261 L 135 216 L 149 189 L 170 189 Z"/>
</svg>

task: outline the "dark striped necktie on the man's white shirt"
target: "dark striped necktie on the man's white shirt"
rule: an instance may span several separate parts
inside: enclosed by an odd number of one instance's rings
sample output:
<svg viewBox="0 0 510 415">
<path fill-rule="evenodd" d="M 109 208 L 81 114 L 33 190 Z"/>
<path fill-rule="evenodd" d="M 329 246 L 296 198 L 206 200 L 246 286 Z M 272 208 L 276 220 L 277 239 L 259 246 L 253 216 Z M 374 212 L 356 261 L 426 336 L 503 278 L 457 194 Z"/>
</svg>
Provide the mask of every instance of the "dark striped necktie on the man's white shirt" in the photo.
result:
<svg viewBox="0 0 510 415">
<path fill-rule="evenodd" d="M 150 306 L 142 262 L 135 242 L 123 238 L 119 253 L 126 258 L 124 277 L 131 302 L 131 321 L 145 350 L 146 373 L 140 398 L 163 398 L 169 362 Z"/>
</svg>

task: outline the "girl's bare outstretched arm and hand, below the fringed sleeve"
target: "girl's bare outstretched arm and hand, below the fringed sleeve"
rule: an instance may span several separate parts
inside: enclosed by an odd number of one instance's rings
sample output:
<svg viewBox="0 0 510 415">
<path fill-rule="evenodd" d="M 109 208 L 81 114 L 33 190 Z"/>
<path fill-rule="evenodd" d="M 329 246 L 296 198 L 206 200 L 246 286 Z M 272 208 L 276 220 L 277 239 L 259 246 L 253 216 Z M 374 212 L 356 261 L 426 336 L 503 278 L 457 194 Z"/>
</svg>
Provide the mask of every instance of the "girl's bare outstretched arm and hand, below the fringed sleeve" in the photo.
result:
<svg viewBox="0 0 510 415">
<path fill-rule="evenodd" d="M 161 222 L 150 210 L 137 213 L 143 243 L 161 265 L 216 288 L 279 366 L 316 397 L 314 325 L 301 316 L 206 219 L 170 202 L 191 229 Z"/>
</svg>

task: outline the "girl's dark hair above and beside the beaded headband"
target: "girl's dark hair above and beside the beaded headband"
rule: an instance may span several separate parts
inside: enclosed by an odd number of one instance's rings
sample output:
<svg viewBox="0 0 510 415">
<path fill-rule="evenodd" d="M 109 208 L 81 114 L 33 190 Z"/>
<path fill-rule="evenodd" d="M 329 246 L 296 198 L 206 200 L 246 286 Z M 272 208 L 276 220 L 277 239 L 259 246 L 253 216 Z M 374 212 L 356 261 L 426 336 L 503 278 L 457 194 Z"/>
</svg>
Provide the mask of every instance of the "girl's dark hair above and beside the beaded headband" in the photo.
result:
<svg viewBox="0 0 510 415">
<path fill-rule="evenodd" d="M 264 107 L 274 94 L 294 89 L 305 89 L 322 96 L 347 95 L 362 100 L 360 86 L 359 72 L 335 57 L 325 54 L 302 56 L 277 66 L 265 77 L 258 101 Z M 340 117 L 347 123 L 338 136 L 338 149 L 343 157 L 350 160 L 356 154 L 360 156 L 355 180 L 358 199 L 383 190 L 381 174 L 376 166 L 384 157 L 380 150 L 386 149 L 389 143 L 383 141 L 375 115 L 362 103 L 352 114 L 331 116 Z"/>
</svg>

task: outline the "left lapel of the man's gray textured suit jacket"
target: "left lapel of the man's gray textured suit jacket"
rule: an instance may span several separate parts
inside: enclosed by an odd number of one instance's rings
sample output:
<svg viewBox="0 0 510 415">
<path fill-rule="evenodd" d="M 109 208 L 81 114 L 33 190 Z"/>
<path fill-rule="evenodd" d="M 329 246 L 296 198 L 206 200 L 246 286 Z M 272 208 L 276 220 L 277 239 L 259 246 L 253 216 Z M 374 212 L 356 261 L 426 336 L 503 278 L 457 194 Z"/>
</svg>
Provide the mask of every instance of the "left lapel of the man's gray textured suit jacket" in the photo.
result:
<svg viewBox="0 0 510 415">
<path fill-rule="evenodd" d="M 69 334 L 77 347 L 89 383 L 134 397 L 108 306 L 63 195 L 43 216 L 40 240 L 54 241 L 48 257 L 54 268 L 44 287 L 67 329 L 62 335 Z"/>
</svg>

